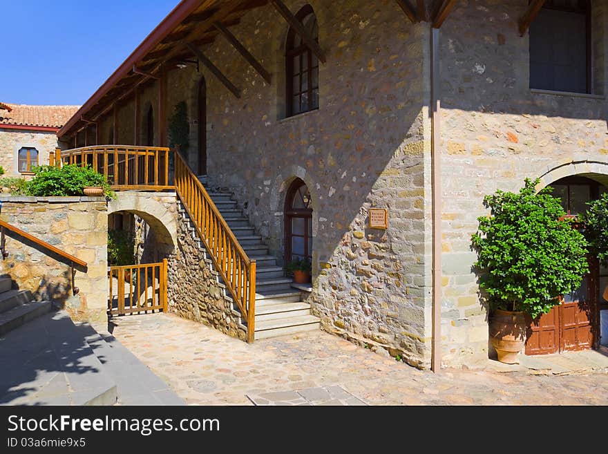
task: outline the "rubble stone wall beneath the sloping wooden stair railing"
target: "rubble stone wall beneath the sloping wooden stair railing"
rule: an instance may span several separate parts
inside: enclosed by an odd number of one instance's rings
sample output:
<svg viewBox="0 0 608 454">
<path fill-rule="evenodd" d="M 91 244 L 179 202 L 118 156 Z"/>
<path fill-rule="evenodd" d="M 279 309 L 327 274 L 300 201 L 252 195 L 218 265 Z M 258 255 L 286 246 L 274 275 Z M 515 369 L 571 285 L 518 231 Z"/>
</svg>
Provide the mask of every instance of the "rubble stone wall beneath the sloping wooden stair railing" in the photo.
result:
<svg viewBox="0 0 608 454">
<path fill-rule="evenodd" d="M 193 240 L 186 220 L 178 220 L 178 252 L 169 258 L 169 310 L 238 339 L 247 339 L 211 261 Z"/>
</svg>

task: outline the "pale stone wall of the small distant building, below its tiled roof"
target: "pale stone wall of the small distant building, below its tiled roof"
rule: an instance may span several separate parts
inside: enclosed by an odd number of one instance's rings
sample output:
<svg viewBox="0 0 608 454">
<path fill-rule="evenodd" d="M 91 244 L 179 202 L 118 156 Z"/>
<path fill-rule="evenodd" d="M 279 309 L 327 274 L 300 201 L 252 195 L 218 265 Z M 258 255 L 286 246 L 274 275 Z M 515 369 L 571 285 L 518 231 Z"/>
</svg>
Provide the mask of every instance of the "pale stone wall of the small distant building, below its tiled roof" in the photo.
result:
<svg viewBox="0 0 608 454">
<path fill-rule="evenodd" d="M 17 166 L 19 149 L 23 146 L 37 149 L 38 163 L 48 164 L 49 154 L 54 154 L 57 147 L 57 135 L 54 132 L 0 128 L 0 166 L 4 167 L 4 176 L 21 176 Z"/>
</svg>

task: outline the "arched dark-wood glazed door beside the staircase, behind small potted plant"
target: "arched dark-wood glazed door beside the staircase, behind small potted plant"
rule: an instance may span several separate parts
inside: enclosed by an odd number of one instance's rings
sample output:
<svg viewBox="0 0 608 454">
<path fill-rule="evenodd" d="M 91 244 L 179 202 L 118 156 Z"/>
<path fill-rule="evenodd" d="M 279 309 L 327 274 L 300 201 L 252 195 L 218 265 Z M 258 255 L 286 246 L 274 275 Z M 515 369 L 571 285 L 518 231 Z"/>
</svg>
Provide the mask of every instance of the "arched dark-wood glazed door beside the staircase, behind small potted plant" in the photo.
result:
<svg viewBox="0 0 608 454">
<path fill-rule="evenodd" d="M 285 262 L 297 258 L 312 261 L 312 204 L 300 178 L 292 182 L 285 198 Z"/>
</svg>

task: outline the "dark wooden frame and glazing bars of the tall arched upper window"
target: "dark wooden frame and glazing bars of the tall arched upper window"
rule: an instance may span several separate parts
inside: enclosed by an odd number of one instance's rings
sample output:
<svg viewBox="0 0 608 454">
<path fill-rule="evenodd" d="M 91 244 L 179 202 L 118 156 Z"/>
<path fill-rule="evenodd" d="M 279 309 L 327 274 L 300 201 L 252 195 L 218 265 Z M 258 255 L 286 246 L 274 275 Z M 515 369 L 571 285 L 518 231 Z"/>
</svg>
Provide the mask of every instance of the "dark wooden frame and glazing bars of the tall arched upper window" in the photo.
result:
<svg viewBox="0 0 608 454">
<path fill-rule="evenodd" d="M 303 19 L 305 19 L 305 17 L 307 17 L 308 15 L 313 15 L 314 16 L 314 21 L 316 21 L 316 15 L 314 14 L 314 10 L 312 9 L 312 6 L 310 5 L 305 5 L 301 8 L 301 10 L 298 11 L 298 13 L 296 14 L 296 19 L 298 19 L 298 21 L 303 21 Z M 318 27 L 318 23 L 317 23 L 317 27 Z M 289 28 L 289 31 L 287 32 L 287 41 L 286 41 L 286 46 L 285 46 L 285 117 L 293 117 L 295 115 L 300 115 L 301 113 L 306 113 L 306 112 L 311 112 L 311 111 L 316 111 L 319 109 L 319 100 L 317 99 L 317 105 L 315 107 L 312 107 L 312 93 L 314 90 L 317 91 L 317 96 L 319 96 L 319 59 L 316 60 L 316 66 L 313 68 L 312 66 L 312 59 L 314 54 L 312 53 L 312 50 L 306 46 L 306 44 L 304 44 L 303 42 L 297 46 L 294 47 L 294 39 L 296 38 L 296 32 L 293 28 Z M 316 42 L 319 42 L 319 36 L 317 35 L 315 38 Z M 302 75 L 304 74 L 303 70 L 302 70 L 302 64 L 300 64 L 300 68 L 299 68 L 299 72 L 298 72 L 298 76 L 300 79 L 300 87 L 299 87 L 299 92 L 297 93 L 298 98 L 300 99 L 300 107 L 301 107 L 301 95 L 303 95 L 303 93 L 306 93 L 308 96 L 308 106 L 306 110 L 302 110 L 301 108 L 298 110 L 298 112 L 294 112 L 294 96 L 296 96 L 296 93 L 294 93 L 294 77 L 296 77 L 296 74 L 294 74 L 294 58 L 295 57 L 300 57 L 302 56 L 303 59 L 306 59 L 307 62 L 307 69 L 306 69 L 306 73 L 307 73 L 307 90 L 306 91 L 302 91 Z M 312 74 L 313 74 L 313 70 L 316 68 L 316 86 L 313 86 L 312 84 Z"/>
</svg>

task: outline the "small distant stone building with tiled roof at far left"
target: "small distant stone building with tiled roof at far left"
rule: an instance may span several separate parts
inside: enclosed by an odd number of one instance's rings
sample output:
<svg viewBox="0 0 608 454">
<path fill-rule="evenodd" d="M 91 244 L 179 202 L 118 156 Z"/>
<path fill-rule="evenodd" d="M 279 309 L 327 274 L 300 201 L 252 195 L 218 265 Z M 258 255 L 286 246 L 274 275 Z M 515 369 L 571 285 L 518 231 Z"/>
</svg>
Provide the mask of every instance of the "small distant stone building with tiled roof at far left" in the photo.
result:
<svg viewBox="0 0 608 454">
<path fill-rule="evenodd" d="M 5 176 L 29 176 L 48 164 L 57 131 L 79 106 L 26 106 L 0 102 L 0 166 Z"/>
</svg>

